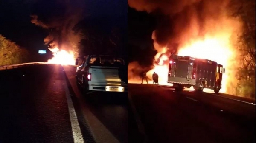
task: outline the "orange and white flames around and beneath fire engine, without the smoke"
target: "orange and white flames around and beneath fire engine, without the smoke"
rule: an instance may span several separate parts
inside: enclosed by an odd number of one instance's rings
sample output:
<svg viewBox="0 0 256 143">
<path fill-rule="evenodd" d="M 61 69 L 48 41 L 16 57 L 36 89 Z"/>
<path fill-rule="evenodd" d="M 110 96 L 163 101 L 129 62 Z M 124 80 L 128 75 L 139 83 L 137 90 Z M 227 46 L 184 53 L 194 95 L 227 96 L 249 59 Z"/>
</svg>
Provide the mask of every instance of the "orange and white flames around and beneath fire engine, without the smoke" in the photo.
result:
<svg viewBox="0 0 256 143">
<path fill-rule="evenodd" d="M 198 36 L 189 36 L 180 41 L 181 45 L 177 50 L 179 56 L 192 56 L 200 59 L 209 59 L 216 61 L 218 64 L 222 64 L 226 69 L 222 79 L 221 93 L 235 94 L 236 83 L 236 68 L 239 65 L 236 64 L 236 56 L 238 56 L 237 50 L 234 46 L 235 36 L 239 33 L 241 23 L 239 20 L 224 19 L 209 25 L 208 32 L 206 32 L 202 38 Z M 212 29 L 211 29 L 212 28 Z M 237 30 L 237 31 L 236 31 Z M 234 36 L 234 37 L 233 37 Z M 154 39 L 154 32 L 152 35 Z M 167 84 L 168 75 L 168 62 L 169 60 L 166 51 L 167 47 L 160 47 L 157 42 L 154 41 L 154 47 L 157 50 L 157 55 L 154 57 L 154 61 L 159 60 L 159 64 L 154 64 L 154 68 L 147 72 L 147 76 L 151 77 L 154 72 L 159 76 L 159 84 Z M 160 57 L 161 56 L 161 57 Z M 128 65 L 129 68 L 136 68 L 133 64 Z M 141 82 L 130 78 L 129 82 Z M 185 90 L 194 90 L 193 87 Z M 212 92 L 212 90 L 205 89 L 205 92 Z"/>
</svg>

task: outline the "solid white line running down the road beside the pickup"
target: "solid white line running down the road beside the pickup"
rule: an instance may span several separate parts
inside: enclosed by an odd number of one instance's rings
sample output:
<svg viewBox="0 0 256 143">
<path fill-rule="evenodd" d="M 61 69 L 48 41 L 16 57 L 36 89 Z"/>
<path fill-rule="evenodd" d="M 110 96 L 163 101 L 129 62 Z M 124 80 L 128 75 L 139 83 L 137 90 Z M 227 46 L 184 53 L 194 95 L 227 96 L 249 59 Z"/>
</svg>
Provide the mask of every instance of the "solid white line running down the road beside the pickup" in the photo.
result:
<svg viewBox="0 0 256 143">
<path fill-rule="evenodd" d="M 69 94 L 69 90 L 66 82 L 64 82 L 64 88 L 66 92 L 67 105 L 68 105 L 68 111 L 70 115 L 70 122 L 71 122 L 74 143 L 84 143 L 84 138 L 81 133 L 81 129 L 76 117 L 76 111 L 73 106 L 72 99 L 70 98 L 70 94 Z"/>
</svg>

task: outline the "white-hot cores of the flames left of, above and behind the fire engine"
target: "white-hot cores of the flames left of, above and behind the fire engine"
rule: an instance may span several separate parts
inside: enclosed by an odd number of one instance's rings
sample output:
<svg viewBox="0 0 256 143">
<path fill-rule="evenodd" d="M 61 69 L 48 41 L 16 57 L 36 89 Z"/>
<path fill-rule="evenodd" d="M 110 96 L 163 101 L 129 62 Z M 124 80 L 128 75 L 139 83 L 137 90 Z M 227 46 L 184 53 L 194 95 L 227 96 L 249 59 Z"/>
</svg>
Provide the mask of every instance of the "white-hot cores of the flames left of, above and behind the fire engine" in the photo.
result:
<svg viewBox="0 0 256 143">
<path fill-rule="evenodd" d="M 184 45 L 178 50 L 179 56 L 192 56 L 200 59 L 209 59 L 222 64 L 226 68 L 226 73 L 223 75 L 222 89 L 220 92 L 227 92 L 228 76 L 230 74 L 231 59 L 234 57 L 234 52 L 230 48 L 229 35 L 222 35 L 216 37 L 206 37 L 203 40 L 192 41 Z M 168 60 L 166 55 L 159 57 L 157 54 L 155 59 L 160 58 L 159 64 L 155 64 L 154 69 L 148 71 L 147 75 L 150 76 L 153 72 L 158 73 L 160 77 L 160 84 L 167 85 L 168 64 L 163 64 Z M 165 62 L 166 63 L 166 62 Z M 188 90 L 188 89 L 187 89 Z M 190 88 L 189 90 L 194 90 Z"/>
</svg>

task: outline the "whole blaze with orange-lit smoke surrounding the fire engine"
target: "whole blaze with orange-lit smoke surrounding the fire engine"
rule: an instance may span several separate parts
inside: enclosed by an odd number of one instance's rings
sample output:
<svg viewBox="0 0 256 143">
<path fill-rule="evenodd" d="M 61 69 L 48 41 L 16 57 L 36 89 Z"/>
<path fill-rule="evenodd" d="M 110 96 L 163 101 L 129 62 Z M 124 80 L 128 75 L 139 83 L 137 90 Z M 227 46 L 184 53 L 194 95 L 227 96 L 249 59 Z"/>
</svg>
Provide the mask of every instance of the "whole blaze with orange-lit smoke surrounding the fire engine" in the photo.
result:
<svg viewBox="0 0 256 143">
<path fill-rule="evenodd" d="M 128 0 L 129 6 L 138 11 L 158 14 L 158 26 L 152 33 L 157 54 L 147 75 L 156 72 L 159 83 L 167 84 L 170 53 L 209 59 L 226 68 L 221 92 L 232 93 L 229 85 L 237 82 L 234 59 L 238 55 L 233 43 L 241 22 L 228 16 L 228 3 L 229 0 Z M 128 68 L 133 66 L 129 64 Z"/>
</svg>

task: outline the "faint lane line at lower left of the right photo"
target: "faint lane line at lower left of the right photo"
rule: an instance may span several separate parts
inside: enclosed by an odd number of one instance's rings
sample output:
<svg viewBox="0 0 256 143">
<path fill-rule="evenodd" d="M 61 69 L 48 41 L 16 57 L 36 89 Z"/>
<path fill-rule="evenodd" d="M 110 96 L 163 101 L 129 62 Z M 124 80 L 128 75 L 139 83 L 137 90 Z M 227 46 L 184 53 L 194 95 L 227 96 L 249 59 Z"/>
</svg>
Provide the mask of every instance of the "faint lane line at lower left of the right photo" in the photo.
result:
<svg viewBox="0 0 256 143">
<path fill-rule="evenodd" d="M 134 114 L 134 118 L 135 118 L 135 121 L 137 123 L 137 126 L 138 126 L 138 129 L 139 129 L 139 132 L 144 136 L 144 142 L 147 143 L 147 136 L 145 134 L 145 129 L 144 129 L 144 126 L 140 120 L 140 116 L 136 110 L 136 107 L 131 99 L 131 95 L 130 93 L 128 93 L 128 100 L 129 100 L 129 103 L 131 105 L 131 109 L 132 109 L 132 112 Z"/>
</svg>

